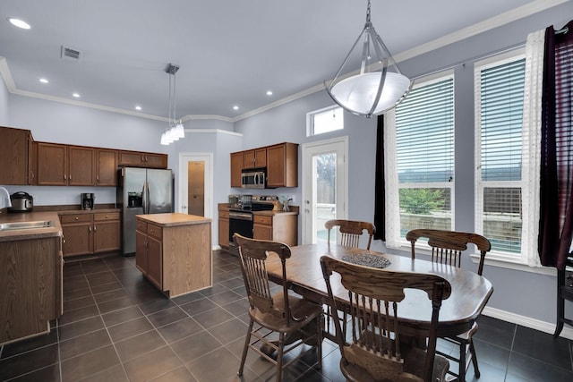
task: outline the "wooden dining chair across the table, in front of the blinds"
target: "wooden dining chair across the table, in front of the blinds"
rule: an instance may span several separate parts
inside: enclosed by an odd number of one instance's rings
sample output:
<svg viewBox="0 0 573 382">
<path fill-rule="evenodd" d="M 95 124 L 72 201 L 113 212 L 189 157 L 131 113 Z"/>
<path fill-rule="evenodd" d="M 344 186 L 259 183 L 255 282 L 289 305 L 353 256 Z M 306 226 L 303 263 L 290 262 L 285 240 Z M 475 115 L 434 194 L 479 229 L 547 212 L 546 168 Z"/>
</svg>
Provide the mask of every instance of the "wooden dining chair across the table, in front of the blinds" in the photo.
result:
<svg viewBox="0 0 573 382">
<path fill-rule="evenodd" d="M 432 261 L 449 264 L 454 267 L 461 267 L 463 251 L 467 249 L 467 244 L 473 243 L 480 251 L 480 261 L 477 266 L 477 274 L 482 276 L 483 262 L 485 254 L 492 249 L 489 240 L 477 233 L 465 233 L 456 231 L 442 231 L 433 229 L 415 229 L 406 233 L 406 240 L 412 246 L 412 259 L 415 259 L 415 242 L 418 239 L 426 239 L 428 245 L 432 248 Z M 445 337 L 446 341 L 456 344 L 459 347 L 459 358 L 446 353 L 441 353 L 451 361 L 458 362 L 458 373 L 450 370 L 449 374 L 458 378 L 458 382 L 466 381 L 466 371 L 469 368 L 469 362 L 474 364 L 475 377 L 480 377 L 480 369 L 477 365 L 474 342 L 472 336 L 478 329 L 477 322 L 466 333 L 455 337 Z"/>
</svg>

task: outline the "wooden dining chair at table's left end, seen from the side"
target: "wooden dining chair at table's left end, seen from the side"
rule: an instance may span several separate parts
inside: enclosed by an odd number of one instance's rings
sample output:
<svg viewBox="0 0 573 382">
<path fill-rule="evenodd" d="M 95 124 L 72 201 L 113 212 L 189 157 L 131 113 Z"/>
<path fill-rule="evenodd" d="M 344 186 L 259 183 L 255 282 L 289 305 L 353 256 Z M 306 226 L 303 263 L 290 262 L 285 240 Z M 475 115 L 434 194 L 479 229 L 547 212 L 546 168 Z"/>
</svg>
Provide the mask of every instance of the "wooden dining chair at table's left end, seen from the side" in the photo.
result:
<svg viewBox="0 0 573 382">
<path fill-rule="evenodd" d="M 238 375 L 243 375 L 247 352 L 251 349 L 267 361 L 277 366 L 276 380 L 282 378 L 283 369 L 305 354 L 316 350 L 318 368 L 322 366 L 322 306 L 312 301 L 288 293 L 286 282 L 286 259 L 290 258 L 290 248 L 282 242 L 253 240 L 234 235 L 239 249 L 241 271 L 249 300 L 249 328 L 244 340 L 243 356 Z M 278 256 L 282 263 L 282 290 L 271 294 L 266 260 Z M 253 329 L 254 324 L 258 326 Z M 273 340 L 278 333 L 278 341 Z M 295 358 L 283 364 L 283 356 L 303 344 L 308 349 L 297 352 Z M 262 346 L 261 349 L 258 346 Z M 266 349 L 266 350 L 265 350 Z M 270 352 L 268 351 L 270 349 Z M 271 354 L 277 352 L 275 361 Z"/>
</svg>

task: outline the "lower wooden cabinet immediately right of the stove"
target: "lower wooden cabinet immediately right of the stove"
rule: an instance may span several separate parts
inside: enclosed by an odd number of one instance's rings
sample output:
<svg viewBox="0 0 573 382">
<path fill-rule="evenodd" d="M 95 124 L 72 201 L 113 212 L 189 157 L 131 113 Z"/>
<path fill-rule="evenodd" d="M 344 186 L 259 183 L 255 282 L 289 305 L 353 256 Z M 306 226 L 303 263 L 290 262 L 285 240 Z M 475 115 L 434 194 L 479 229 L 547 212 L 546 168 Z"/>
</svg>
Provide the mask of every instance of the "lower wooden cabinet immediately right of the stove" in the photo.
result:
<svg viewBox="0 0 573 382">
<path fill-rule="evenodd" d="M 253 212 L 252 237 L 297 245 L 298 212 Z"/>
</svg>

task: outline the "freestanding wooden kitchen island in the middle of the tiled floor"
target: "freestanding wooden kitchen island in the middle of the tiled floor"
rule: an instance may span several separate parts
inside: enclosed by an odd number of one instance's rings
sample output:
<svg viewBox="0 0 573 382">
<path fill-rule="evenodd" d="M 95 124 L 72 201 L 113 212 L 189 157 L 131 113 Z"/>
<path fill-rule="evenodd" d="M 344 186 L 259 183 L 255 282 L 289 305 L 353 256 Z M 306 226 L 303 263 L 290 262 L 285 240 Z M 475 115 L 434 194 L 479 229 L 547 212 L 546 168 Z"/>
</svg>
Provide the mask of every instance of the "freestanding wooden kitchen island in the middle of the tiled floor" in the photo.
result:
<svg viewBox="0 0 573 382">
<path fill-rule="evenodd" d="M 170 298 L 212 286 L 211 219 L 137 215 L 135 266 Z"/>
</svg>

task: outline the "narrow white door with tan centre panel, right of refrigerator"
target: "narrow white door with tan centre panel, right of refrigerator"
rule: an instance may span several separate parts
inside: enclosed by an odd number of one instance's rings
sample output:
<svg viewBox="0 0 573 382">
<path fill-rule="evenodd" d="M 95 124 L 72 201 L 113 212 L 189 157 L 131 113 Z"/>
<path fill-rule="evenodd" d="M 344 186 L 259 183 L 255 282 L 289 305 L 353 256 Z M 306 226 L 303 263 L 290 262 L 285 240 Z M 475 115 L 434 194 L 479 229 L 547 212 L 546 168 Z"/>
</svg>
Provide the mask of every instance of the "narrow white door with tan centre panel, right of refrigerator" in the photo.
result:
<svg viewBox="0 0 573 382">
<path fill-rule="evenodd" d="M 200 166 L 198 166 L 200 165 Z M 196 170 L 201 167 L 202 172 Z M 201 174 L 203 179 L 190 182 L 190 174 Z M 191 186 L 190 186 L 191 184 Z M 201 191 L 196 190 L 201 185 Z M 201 194 L 201 195 L 200 195 Z M 179 154 L 179 196 L 176 211 L 182 214 L 192 214 L 189 210 L 189 200 L 203 199 L 203 216 L 213 217 L 213 154 L 212 153 L 181 153 Z M 196 208 L 194 208 L 196 210 Z"/>
</svg>

